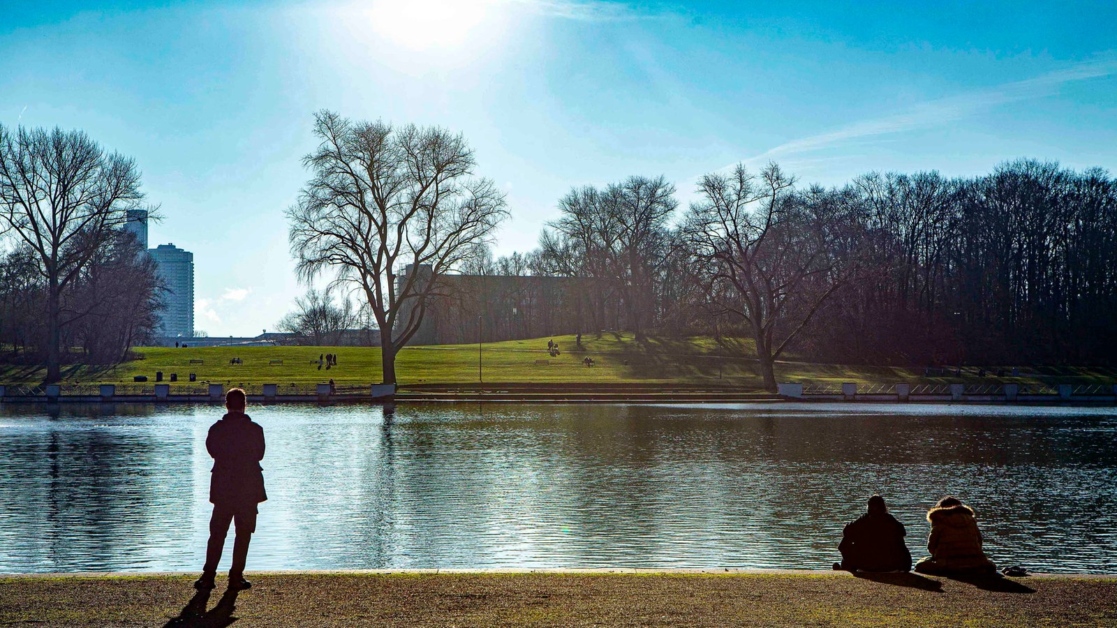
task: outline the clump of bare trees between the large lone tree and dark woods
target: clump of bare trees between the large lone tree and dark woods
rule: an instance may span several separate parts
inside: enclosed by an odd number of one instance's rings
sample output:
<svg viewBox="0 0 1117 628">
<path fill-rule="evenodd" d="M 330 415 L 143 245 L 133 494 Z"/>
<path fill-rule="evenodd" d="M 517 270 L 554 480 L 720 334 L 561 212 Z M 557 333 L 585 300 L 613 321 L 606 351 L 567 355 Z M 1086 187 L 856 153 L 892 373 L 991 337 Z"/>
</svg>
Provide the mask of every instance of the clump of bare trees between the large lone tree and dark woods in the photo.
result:
<svg viewBox="0 0 1117 628">
<path fill-rule="evenodd" d="M 540 274 L 593 279 L 583 330 L 623 327 L 639 341 L 650 329 L 709 332 L 725 321 L 755 341 L 774 389 L 775 361 L 859 272 L 849 242 L 861 226 L 844 194 L 795 191 L 774 164 L 707 174 L 698 191 L 680 217 L 663 178 L 572 190 L 528 257 Z"/>
</svg>

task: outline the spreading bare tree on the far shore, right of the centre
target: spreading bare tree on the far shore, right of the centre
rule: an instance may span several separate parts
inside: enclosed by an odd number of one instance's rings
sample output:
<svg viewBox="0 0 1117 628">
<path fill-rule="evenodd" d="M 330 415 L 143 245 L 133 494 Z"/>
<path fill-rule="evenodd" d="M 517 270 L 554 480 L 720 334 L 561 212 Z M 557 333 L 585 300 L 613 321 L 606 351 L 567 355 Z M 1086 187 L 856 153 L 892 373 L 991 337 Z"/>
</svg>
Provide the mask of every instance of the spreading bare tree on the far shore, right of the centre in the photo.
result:
<svg viewBox="0 0 1117 628">
<path fill-rule="evenodd" d="M 743 165 L 707 174 L 685 225 L 697 263 L 709 270 L 709 299 L 745 322 L 773 392 L 775 361 L 846 280 L 832 247 L 842 203 L 818 189 L 796 197 L 793 185 L 775 164 L 758 180 Z"/>
</svg>

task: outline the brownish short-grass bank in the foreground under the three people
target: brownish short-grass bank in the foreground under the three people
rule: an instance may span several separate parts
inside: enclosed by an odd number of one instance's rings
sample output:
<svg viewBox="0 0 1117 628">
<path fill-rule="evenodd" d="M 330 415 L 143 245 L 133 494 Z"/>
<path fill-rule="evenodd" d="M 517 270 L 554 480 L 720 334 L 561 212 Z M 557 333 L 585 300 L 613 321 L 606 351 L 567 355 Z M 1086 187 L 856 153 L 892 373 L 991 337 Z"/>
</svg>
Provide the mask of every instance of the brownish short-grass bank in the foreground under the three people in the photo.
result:
<svg viewBox="0 0 1117 628">
<path fill-rule="evenodd" d="M 846 573 L 0 578 L 6 626 L 1117 626 L 1117 580 Z"/>
</svg>

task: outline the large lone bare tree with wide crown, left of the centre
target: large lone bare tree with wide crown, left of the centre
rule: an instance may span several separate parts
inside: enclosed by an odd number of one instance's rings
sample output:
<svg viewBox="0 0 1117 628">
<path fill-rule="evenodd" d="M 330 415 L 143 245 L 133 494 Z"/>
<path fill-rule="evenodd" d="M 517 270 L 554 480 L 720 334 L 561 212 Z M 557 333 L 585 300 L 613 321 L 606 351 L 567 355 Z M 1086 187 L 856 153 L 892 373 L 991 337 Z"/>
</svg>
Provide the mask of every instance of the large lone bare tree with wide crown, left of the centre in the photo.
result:
<svg viewBox="0 0 1117 628">
<path fill-rule="evenodd" d="M 330 274 L 359 291 L 380 326 L 383 381 L 419 330 L 439 278 L 507 216 L 505 196 L 474 177 L 460 134 L 315 115 L 313 175 L 287 211 L 292 254 L 304 280 Z M 408 272 L 408 270 L 411 272 Z"/>
</svg>

